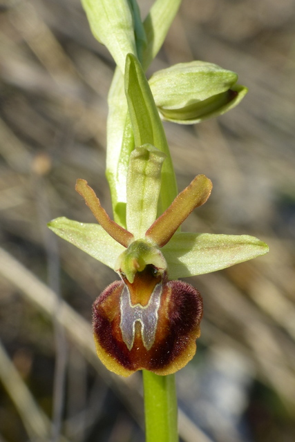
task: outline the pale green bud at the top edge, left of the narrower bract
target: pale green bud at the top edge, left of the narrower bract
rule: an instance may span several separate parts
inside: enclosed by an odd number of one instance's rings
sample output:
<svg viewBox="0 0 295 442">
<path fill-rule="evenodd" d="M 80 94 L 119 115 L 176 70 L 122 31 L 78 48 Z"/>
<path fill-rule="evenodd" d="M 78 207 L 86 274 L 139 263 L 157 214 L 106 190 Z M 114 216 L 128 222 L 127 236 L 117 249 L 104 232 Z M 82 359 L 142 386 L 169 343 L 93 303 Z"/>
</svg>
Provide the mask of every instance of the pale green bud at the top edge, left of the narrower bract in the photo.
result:
<svg viewBox="0 0 295 442">
<path fill-rule="evenodd" d="M 94 37 L 124 73 L 126 55 L 136 54 L 133 13 L 128 0 L 82 0 Z"/>
</svg>

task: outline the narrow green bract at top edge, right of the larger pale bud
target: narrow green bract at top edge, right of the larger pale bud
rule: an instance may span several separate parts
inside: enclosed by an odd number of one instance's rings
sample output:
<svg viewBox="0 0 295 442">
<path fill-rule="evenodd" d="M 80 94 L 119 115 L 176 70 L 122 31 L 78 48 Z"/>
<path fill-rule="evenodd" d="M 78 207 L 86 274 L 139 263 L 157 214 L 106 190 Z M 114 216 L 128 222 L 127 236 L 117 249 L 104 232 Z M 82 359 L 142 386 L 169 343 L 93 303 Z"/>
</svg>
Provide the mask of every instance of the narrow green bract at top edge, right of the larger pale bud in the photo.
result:
<svg viewBox="0 0 295 442">
<path fill-rule="evenodd" d="M 144 49 L 144 70 L 158 54 L 171 23 L 178 12 L 181 0 L 156 0 L 144 20 L 147 46 Z"/>
</svg>

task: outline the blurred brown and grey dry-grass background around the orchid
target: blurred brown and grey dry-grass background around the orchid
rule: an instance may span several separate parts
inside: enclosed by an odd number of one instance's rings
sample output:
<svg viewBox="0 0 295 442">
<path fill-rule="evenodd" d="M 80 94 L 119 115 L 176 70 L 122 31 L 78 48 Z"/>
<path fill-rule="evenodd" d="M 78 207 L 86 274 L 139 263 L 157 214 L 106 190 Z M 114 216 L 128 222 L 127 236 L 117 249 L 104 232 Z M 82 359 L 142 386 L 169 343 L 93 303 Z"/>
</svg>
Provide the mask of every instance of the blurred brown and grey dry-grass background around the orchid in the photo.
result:
<svg viewBox="0 0 295 442">
<path fill-rule="evenodd" d="M 249 87 L 218 119 L 164 127 L 179 189 L 198 173 L 213 181 L 184 230 L 270 247 L 189 280 L 204 319 L 176 376 L 183 442 L 294 441 L 294 25 L 294 0 L 183 0 L 148 71 L 201 59 Z M 141 374 L 107 372 L 91 336 L 91 305 L 116 275 L 46 228 L 62 215 L 93 222 L 78 177 L 111 214 L 113 70 L 79 0 L 0 1 L 1 442 L 144 441 Z"/>
</svg>

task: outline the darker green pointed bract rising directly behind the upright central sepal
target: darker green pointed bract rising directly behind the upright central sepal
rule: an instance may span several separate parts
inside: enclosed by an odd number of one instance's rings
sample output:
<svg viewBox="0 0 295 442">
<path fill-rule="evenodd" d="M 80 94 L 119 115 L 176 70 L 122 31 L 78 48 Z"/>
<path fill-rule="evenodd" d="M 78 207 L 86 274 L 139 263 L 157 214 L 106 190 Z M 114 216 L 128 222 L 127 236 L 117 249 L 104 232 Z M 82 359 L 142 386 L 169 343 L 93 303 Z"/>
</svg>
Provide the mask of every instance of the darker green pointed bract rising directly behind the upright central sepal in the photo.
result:
<svg viewBox="0 0 295 442">
<path fill-rule="evenodd" d="M 161 191 L 161 211 L 164 211 L 178 193 L 175 173 L 164 128 L 149 83 L 140 62 L 132 54 L 126 57 L 125 92 L 133 126 L 135 146 L 152 144 L 166 155 L 162 167 Z"/>
</svg>

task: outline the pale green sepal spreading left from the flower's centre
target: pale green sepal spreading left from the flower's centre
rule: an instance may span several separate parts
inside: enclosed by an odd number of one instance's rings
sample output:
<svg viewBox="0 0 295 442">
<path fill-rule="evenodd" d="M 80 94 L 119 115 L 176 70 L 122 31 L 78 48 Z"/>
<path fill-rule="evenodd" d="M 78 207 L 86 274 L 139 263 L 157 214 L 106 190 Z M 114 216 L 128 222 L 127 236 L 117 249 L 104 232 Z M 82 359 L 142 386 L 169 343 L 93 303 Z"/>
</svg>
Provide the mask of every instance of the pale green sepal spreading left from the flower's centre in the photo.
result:
<svg viewBox="0 0 295 442">
<path fill-rule="evenodd" d="M 119 242 L 113 240 L 99 224 L 77 222 L 61 217 L 48 222 L 48 227 L 57 236 L 74 244 L 78 249 L 85 251 L 111 269 L 115 269 L 118 256 L 126 250 Z"/>
</svg>

